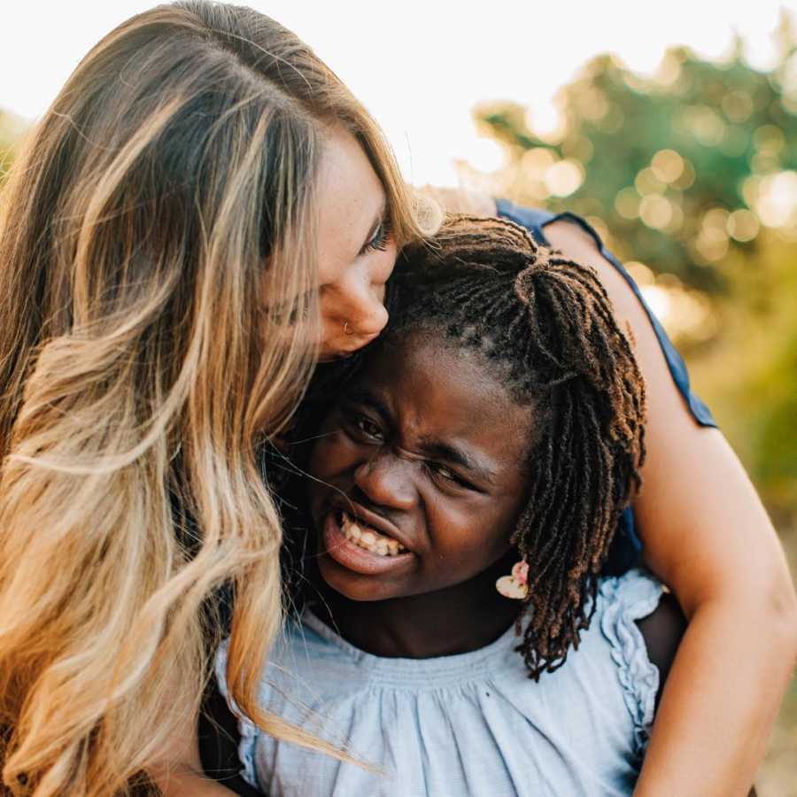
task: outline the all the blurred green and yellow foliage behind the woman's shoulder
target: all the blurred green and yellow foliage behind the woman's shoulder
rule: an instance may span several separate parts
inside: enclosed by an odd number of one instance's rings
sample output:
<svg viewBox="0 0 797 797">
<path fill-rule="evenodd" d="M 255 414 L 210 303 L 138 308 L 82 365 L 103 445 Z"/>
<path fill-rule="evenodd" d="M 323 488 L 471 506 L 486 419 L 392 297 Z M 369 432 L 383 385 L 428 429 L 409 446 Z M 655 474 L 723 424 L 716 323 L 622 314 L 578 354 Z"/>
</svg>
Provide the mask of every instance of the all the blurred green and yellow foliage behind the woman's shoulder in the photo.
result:
<svg viewBox="0 0 797 797">
<path fill-rule="evenodd" d="M 477 109 L 507 166 L 462 168 L 471 185 L 592 223 L 685 352 L 770 509 L 797 517 L 797 31 L 786 12 L 773 47 L 769 73 L 747 65 L 739 41 L 717 62 L 669 50 L 648 76 L 593 58 L 561 89 L 556 129 L 537 130 L 533 106 Z"/>
</svg>

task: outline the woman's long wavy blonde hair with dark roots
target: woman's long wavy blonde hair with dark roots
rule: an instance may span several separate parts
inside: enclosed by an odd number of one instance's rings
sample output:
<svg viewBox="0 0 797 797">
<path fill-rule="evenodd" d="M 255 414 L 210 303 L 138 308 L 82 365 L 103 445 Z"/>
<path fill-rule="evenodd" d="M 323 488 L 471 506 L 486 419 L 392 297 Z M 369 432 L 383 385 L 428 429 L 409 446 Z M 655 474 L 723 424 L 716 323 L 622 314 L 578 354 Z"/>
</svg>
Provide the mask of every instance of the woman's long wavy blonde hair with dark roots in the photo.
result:
<svg viewBox="0 0 797 797">
<path fill-rule="evenodd" d="M 257 706 L 281 620 L 280 519 L 257 448 L 313 367 L 314 177 L 333 125 L 375 167 L 399 244 L 417 236 L 378 129 L 313 51 L 248 9 L 184 2 L 98 43 L 13 167 L 0 218 L 13 793 L 129 793 L 196 721 L 223 584 L 232 697 L 313 743 Z M 286 303 L 311 321 L 290 325 Z"/>
</svg>

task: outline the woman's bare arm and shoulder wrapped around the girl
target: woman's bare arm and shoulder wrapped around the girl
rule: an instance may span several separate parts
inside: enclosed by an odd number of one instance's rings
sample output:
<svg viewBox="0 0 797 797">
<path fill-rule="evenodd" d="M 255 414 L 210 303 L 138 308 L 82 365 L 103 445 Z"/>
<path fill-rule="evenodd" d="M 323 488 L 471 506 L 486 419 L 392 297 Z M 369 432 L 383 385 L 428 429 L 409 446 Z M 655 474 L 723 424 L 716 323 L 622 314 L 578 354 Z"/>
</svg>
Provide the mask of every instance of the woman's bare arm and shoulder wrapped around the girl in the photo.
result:
<svg viewBox="0 0 797 797">
<path fill-rule="evenodd" d="M 689 620 L 635 794 L 745 795 L 797 655 L 797 599 L 775 530 L 731 447 L 687 411 L 645 311 L 592 238 L 567 221 L 555 248 L 597 269 L 646 380 L 647 564 Z"/>
</svg>

